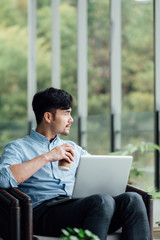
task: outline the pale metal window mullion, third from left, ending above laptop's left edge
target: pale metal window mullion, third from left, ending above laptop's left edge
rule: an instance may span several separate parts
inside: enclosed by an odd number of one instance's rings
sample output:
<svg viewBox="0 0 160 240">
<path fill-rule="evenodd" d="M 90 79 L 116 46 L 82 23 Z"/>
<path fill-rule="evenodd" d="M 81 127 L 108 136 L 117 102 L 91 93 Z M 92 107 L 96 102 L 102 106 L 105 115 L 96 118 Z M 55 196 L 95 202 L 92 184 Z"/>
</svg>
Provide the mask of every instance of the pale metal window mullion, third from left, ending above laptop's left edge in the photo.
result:
<svg viewBox="0 0 160 240">
<path fill-rule="evenodd" d="M 81 145 L 87 145 L 87 116 L 88 116 L 88 68 L 87 68 L 87 1 L 77 1 L 77 81 L 78 81 L 78 117 L 81 118 Z"/>
</svg>

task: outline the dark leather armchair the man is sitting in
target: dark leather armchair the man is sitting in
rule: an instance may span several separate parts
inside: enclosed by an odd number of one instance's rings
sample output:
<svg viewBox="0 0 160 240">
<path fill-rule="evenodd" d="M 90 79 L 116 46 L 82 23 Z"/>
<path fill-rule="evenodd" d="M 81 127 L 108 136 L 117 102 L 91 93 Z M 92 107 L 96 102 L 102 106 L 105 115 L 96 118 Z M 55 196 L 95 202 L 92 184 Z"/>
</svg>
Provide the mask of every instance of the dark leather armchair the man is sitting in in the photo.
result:
<svg viewBox="0 0 160 240">
<path fill-rule="evenodd" d="M 32 204 L 30 198 L 22 193 L 17 188 L 7 189 L 8 193 L 11 194 L 14 198 L 19 200 L 19 204 L 21 207 L 21 239 L 22 240 L 56 240 L 54 237 L 45 237 L 33 235 L 33 216 L 32 216 Z M 151 240 L 153 240 L 153 200 L 152 195 L 146 191 L 143 191 L 139 188 L 133 187 L 131 185 L 127 185 L 127 192 L 137 192 L 143 198 L 143 201 L 146 206 L 150 231 L 151 231 Z M 0 195 L 0 199 L 3 196 Z M 1 201 L 1 200 L 0 200 Z M 1 237 L 1 235 L 0 235 Z M 108 235 L 106 240 L 125 240 L 121 238 L 121 232 L 115 232 L 113 234 Z M 5 239 L 8 240 L 8 239 Z"/>
</svg>

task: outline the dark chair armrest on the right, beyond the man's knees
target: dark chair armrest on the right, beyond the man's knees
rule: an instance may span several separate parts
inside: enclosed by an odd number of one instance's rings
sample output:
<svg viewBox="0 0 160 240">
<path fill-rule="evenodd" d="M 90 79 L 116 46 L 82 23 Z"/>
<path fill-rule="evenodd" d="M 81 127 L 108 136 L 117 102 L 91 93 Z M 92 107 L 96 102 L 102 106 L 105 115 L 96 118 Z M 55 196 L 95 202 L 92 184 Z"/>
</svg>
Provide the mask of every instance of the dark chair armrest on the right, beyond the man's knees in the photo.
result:
<svg viewBox="0 0 160 240">
<path fill-rule="evenodd" d="M 146 192 L 140 188 L 131 186 L 129 184 L 126 187 L 126 192 L 136 192 L 142 196 L 143 201 L 146 206 L 146 210 L 147 210 L 147 216 L 148 216 L 148 221 L 149 221 L 150 231 L 151 231 L 151 239 L 153 239 L 153 199 L 152 199 L 152 195 L 149 192 Z"/>
</svg>

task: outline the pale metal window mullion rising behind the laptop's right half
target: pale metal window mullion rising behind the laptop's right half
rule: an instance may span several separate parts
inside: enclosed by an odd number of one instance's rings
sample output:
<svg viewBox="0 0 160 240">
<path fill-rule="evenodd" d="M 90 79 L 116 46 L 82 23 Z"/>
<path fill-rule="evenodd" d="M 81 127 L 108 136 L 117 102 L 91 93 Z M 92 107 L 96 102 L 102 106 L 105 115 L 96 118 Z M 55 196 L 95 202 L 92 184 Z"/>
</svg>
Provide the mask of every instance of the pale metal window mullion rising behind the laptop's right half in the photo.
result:
<svg viewBox="0 0 160 240">
<path fill-rule="evenodd" d="M 121 148 L 121 0 L 110 0 L 110 108 L 114 115 L 115 150 Z M 112 139 L 112 136 L 111 136 Z"/>
</svg>

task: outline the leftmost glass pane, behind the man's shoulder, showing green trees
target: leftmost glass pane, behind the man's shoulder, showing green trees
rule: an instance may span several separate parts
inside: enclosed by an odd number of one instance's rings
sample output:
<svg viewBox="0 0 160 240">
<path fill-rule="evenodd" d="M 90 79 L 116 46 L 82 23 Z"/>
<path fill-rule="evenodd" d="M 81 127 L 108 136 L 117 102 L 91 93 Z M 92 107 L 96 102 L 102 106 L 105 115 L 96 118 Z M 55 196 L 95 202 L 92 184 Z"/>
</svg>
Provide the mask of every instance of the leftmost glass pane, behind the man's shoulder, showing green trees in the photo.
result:
<svg viewBox="0 0 160 240">
<path fill-rule="evenodd" d="M 27 0 L 0 1 L 0 154 L 27 126 Z"/>
</svg>

